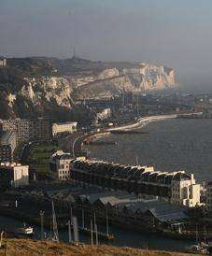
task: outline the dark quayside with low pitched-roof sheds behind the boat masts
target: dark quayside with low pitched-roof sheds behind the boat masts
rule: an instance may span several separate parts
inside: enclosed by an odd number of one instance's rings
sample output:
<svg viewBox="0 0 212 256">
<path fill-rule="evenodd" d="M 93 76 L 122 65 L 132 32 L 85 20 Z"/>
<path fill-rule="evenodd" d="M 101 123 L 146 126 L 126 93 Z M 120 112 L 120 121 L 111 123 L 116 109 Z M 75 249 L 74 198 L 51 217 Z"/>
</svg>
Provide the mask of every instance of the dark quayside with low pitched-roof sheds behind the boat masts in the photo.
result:
<svg viewBox="0 0 212 256">
<path fill-rule="evenodd" d="M 44 210 L 44 226 L 50 228 L 51 202 L 60 230 L 67 229 L 67 221 L 74 214 L 78 217 L 79 232 L 89 235 L 90 220 L 95 214 L 97 224 L 105 228 L 99 232 L 103 239 L 111 240 L 111 232 L 106 236 L 106 216 L 109 226 L 134 230 L 177 239 L 195 239 L 194 220 L 186 208 L 174 206 L 167 201 L 154 197 L 142 199 L 129 192 L 114 192 L 106 189 L 84 186 L 80 182 L 57 186 L 43 184 L 38 187 L 28 186 L 19 192 L 4 194 L 8 204 L 0 207 L 0 215 L 40 225 L 39 211 Z M 2 199 L 3 200 L 3 199 Z M 15 206 L 15 201 L 18 206 Z M 31 202 L 34 202 L 32 205 Z M 84 212 L 82 220 L 82 211 Z M 84 230 L 80 227 L 83 227 Z M 86 231 L 86 229 L 87 231 Z M 203 225 L 199 225 L 199 236 L 204 236 Z M 105 230 L 105 231 L 104 231 Z M 207 227 L 207 235 L 211 234 Z M 116 237 L 115 237 L 116 238 Z"/>
</svg>

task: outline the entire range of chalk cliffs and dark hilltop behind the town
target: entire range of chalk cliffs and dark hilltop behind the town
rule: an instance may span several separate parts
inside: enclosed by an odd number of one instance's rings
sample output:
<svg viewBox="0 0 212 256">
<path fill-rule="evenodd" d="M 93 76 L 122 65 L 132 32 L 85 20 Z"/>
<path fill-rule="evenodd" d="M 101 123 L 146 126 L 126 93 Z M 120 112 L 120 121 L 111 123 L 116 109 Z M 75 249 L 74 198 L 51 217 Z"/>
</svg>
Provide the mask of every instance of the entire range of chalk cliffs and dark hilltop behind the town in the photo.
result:
<svg viewBox="0 0 212 256">
<path fill-rule="evenodd" d="M 109 98 L 123 90 L 145 92 L 175 85 L 175 71 L 163 65 L 78 58 L 8 59 L 7 67 L 0 68 L 0 119 L 50 116 L 69 120 L 76 115 L 78 99 Z"/>
</svg>

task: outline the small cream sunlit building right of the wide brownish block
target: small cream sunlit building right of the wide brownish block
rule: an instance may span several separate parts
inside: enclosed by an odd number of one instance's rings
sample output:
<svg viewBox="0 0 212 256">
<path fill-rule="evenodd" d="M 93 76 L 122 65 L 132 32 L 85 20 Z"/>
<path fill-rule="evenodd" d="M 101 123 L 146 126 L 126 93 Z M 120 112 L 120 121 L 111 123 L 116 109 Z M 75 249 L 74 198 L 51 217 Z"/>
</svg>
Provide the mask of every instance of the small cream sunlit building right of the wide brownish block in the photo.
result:
<svg viewBox="0 0 212 256">
<path fill-rule="evenodd" d="M 74 133 L 77 132 L 77 121 L 68 122 L 55 122 L 52 124 L 52 135 L 58 135 L 60 133 Z"/>
</svg>

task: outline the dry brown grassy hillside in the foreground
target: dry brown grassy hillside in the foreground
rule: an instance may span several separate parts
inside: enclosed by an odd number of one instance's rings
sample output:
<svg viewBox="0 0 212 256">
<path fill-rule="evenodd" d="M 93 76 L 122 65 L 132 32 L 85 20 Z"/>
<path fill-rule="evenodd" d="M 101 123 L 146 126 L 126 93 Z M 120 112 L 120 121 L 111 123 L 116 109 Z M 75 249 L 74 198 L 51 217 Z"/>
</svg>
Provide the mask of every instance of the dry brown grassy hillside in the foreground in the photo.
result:
<svg viewBox="0 0 212 256">
<path fill-rule="evenodd" d="M 144 249 L 131 249 L 131 248 L 117 248 L 109 246 L 69 246 L 64 243 L 53 243 L 48 241 L 37 240 L 24 240 L 24 239 L 8 239 L 7 249 L 0 249 L 0 255 L 8 256 L 33 256 L 33 255 L 86 255 L 86 256 L 189 256 L 190 254 L 166 252 L 166 251 L 153 251 Z"/>
</svg>

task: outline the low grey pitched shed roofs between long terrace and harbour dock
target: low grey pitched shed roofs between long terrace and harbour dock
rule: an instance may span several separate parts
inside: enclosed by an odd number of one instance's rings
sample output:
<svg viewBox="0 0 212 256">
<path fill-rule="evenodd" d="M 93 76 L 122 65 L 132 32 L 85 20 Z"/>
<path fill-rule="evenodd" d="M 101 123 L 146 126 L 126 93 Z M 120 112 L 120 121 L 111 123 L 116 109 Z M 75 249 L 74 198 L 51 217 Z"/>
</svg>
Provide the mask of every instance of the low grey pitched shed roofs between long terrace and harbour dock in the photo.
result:
<svg viewBox="0 0 212 256">
<path fill-rule="evenodd" d="M 110 207 L 125 212 L 129 215 L 144 214 L 150 212 L 155 218 L 161 221 L 187 219 L 184 209 L 181 206 L 174 206 L 164 200 L 155 198 L 141 199 L 128 192 L 110 192 L 97 189 L 84 190 L 77 187 L 67 187 L 63 189 L 43 190 L 34 188 L 27 192 L 31 196 L 47 196 L 49 200 L 64 200 L 71 204 L 79 203 L 82 205 L 99 207 Z"/>
</svg>

